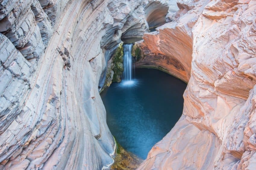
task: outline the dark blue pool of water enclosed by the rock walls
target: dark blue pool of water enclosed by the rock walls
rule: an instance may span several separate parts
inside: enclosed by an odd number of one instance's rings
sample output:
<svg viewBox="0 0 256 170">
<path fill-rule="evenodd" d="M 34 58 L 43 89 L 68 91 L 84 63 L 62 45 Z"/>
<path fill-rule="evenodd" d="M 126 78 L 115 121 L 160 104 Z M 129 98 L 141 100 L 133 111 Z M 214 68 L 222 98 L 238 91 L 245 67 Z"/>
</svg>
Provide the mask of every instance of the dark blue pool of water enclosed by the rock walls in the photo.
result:
<svg viewBox="0 0 256 170">
<path fill-rule="evenodd" d="M 145 159 L 179 120 L 186 83 L 155 69 L 136 69 L 132 83 L 113 83 L 101 93 L 107 124 L 117 142 Z"/>
</svg>

